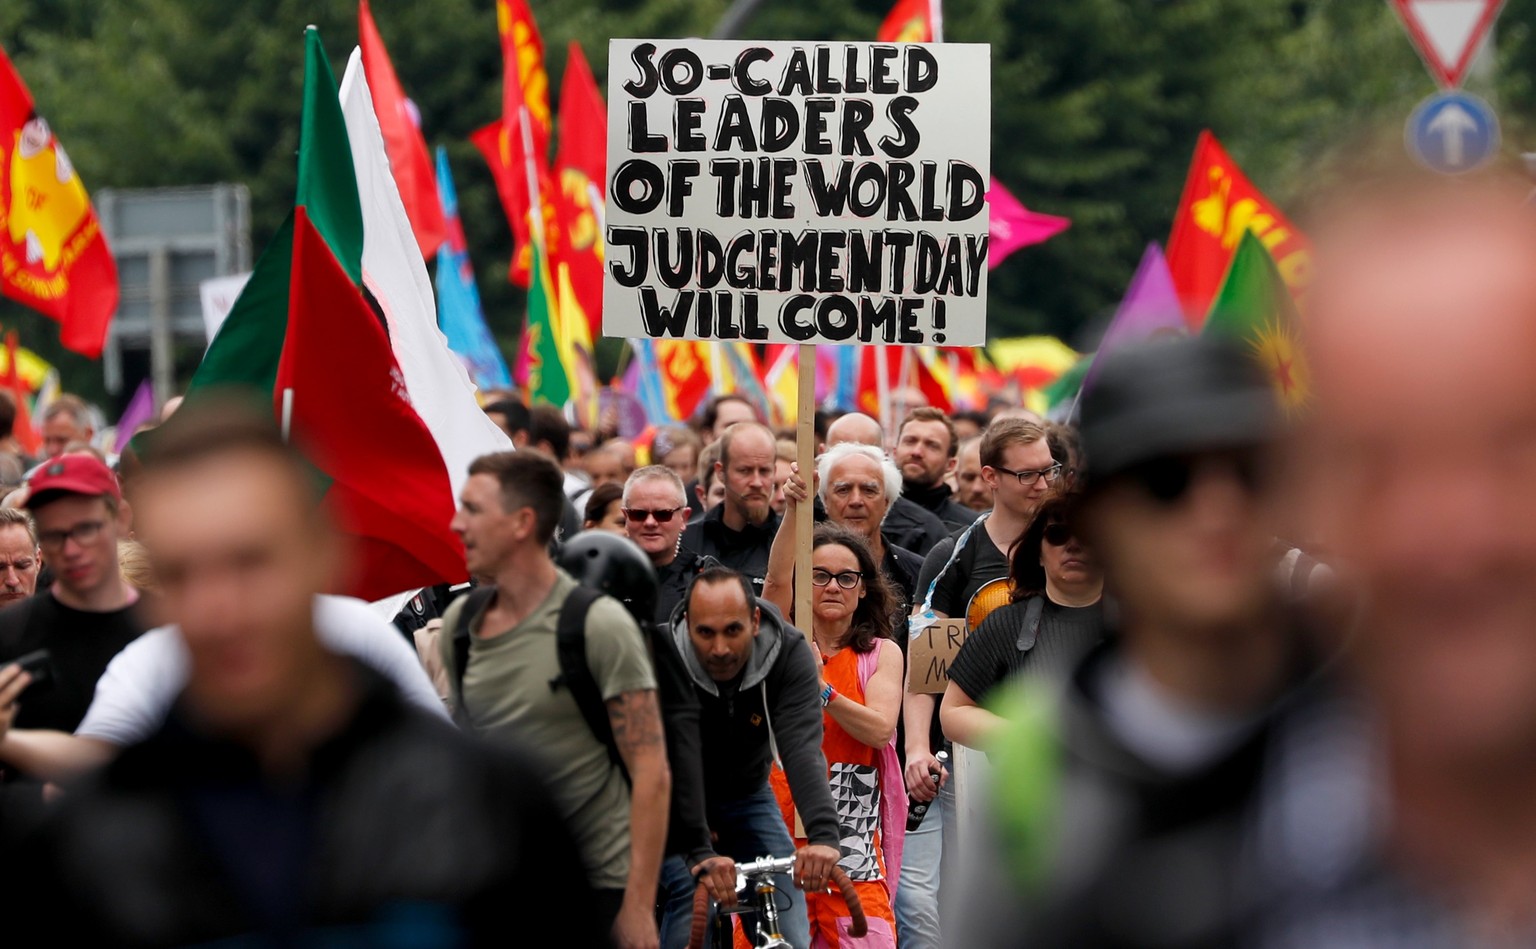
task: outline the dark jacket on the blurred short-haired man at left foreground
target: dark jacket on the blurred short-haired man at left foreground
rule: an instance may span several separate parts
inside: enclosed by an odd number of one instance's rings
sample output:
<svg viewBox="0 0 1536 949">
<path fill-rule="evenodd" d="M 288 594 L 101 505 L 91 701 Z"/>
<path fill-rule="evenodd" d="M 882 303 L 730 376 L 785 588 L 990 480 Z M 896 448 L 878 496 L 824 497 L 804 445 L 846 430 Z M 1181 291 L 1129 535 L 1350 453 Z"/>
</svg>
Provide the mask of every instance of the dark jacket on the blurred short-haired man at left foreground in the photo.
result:
<svg viewBox="0 0 1536 949">
<path fill-rule="evenodd" d="M 8 944 L 607 946 L 536 765 L 358 676 L 355 714 L 296 786 L 177 711 L 71 791 L 6 849 L 0 892 L 26 908 Z"/>
</svg>

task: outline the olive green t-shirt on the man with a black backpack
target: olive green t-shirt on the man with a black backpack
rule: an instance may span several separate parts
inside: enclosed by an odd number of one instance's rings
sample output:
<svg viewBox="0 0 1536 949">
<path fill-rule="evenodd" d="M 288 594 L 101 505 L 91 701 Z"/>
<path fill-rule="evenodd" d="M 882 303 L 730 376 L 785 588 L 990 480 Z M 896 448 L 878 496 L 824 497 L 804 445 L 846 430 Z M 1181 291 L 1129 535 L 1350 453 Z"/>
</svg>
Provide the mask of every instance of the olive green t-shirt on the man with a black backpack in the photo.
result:
<svg viewBox="0 0 1536 949">
<path fill-rule="evenodd" d="M 561 605 L 576 587 L 561 571 L 550 594 L 521 623 L 488 637 L 484 613 L 472 619 L 470 659 L 464 671 L 464 709 L 475 731 L 504 737 L 538 756 L 554 802 L 581 848 L 594 889 L 624 889 L 630 875 L 630 788 L 591 734 L 570 689 L 551 689 L 561 674 L 554 631 Z M 444 616 L 458 625 L 461 599 Z M 445 668 L 453 668 L 453 637 L 444 636 Z M 639 627 L 611 597 L 587 613 L 587 665 L 602 697 L 656 688 L 651 657 Z"/>
</svg>

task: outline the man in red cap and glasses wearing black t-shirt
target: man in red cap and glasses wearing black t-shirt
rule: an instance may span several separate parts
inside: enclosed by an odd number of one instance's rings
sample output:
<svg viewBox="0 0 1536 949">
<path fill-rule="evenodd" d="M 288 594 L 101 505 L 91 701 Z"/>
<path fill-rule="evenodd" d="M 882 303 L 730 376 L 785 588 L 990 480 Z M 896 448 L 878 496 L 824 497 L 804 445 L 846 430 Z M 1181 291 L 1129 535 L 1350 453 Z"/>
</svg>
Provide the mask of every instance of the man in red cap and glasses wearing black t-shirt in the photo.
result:
<svg viewBox="0 0 1536 949">
<path fill-rule="evenodd" d="M 112 657 L 149 628 L 117 559 L 131 513 L 117 476 L 86 453 L 43 462 L 28 482 L 26 507 L 54 585 L 0 611 L 0 665 L 48 650 L 51 683 L 22 697 L 12 725 L 71 732 Z M 8 782 L 17 777 L 6 774 Z M 40 785 L 9 791 L 6 820 L 40 800 Z"/>
</svg>

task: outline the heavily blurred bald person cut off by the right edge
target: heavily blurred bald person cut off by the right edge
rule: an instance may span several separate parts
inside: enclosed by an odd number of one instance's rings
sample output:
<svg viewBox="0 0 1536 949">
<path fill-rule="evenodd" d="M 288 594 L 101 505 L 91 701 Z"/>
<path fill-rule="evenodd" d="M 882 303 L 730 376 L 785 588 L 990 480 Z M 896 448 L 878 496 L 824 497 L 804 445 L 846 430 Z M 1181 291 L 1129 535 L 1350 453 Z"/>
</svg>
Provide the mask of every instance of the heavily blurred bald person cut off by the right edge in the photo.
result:
<svg viewBox="0 0 1536 949">
<path fill-rule="evenodd" d="M 1290 461 L 1304 530 L 1364 596 L 1339 694 L 1293 716 L 1256 822 L 1266 946 L 1536 941 L 1528 192 L 1362 187 L 1315 227 Z"/>
</svg>

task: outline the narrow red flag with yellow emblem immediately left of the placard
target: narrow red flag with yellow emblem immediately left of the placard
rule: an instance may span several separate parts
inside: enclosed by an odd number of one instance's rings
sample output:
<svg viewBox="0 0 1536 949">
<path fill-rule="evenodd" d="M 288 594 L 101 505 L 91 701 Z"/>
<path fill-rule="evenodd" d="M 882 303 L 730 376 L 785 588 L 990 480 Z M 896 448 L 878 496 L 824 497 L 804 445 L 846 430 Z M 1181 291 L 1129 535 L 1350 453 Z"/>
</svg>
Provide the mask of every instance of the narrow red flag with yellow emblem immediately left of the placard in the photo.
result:
<svg viewBox="0 0 1536 949">
<path fill-rule="evenodd" d="M 554 200 L 561 215 L 562 256 L 571 292 L 587 315 L 591 338 L 602 335 L 602 193 L 608 174 L 608 111 L 587 57 L 574 41 L 561 80 L 561 146 L 554 160 Z M 561 315 L 565 316 L 564 313 Z"/>
</svg>

